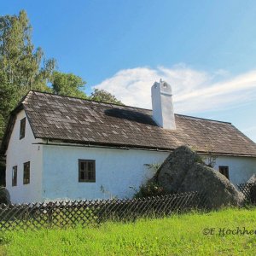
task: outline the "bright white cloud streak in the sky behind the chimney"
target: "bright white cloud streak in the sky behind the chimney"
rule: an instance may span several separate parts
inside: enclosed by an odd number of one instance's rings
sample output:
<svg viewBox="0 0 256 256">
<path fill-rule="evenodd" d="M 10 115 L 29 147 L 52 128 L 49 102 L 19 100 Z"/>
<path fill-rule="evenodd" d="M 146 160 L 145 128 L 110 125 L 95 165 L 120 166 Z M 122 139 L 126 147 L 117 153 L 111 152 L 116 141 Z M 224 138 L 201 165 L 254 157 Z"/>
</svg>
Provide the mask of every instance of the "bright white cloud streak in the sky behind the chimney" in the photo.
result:
<svg viewBox="0 0 256 256">
<path fill-rule="evenodd" d="M 160 79 L 172 85 L 176 113 L 232 108 L 256 99 L 256 70 L 230 77 L 224 70 L 206 73 L 184 65 L 136 67 L 120 70 L 93 87 L 108 90 L 126 105 L 151 108 L 150 88 Z"/>
</svg>

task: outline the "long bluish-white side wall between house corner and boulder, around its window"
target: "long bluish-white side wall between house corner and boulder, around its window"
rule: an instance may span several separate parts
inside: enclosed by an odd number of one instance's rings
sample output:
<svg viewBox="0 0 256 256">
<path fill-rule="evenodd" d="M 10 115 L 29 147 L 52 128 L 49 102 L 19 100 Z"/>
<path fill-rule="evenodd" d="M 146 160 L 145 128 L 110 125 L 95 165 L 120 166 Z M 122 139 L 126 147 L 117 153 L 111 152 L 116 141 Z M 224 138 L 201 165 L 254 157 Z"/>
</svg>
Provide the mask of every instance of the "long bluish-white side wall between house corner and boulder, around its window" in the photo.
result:
<svg viewBox="0 0 256 256">
<path fill-rule="evenodd" d="M 44 200 L 131 197 L 167 152 L 44 145 Z M 96 183 L 79 183 L 79 159 L 96 160 Z M 103 187 L 106 193 L 102 193 Z"/>
</svg>

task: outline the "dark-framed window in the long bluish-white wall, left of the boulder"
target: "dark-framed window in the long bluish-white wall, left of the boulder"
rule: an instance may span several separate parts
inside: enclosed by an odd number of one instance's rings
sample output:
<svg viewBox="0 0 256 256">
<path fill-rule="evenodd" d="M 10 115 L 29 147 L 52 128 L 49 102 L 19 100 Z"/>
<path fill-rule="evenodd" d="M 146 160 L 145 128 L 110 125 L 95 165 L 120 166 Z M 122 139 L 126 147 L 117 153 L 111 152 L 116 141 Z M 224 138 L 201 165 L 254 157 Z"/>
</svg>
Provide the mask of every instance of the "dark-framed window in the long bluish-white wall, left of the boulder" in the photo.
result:
<svg viewBox="0 0 256 256">
<path fill-rule="evenodd" d="M 79 160 L 79 183 L 95 183 L 95 160 Z"/>
</svg>

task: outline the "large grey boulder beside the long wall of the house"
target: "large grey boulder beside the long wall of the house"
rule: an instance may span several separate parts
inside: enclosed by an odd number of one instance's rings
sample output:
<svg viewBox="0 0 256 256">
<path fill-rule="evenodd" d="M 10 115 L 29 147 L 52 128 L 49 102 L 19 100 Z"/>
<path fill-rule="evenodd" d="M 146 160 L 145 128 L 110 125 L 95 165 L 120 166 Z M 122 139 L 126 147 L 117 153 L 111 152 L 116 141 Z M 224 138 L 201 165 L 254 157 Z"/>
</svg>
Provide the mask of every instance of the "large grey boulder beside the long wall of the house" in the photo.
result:
<svg viewBox="0 0 256 256">
<path fill-rule="evenodd" d="M 182 146 L 170 154 L 156 174 L 169 193 L 199 191 L 207 197 L 207 207 L 240 206 L 244 196 L 224 175 L 206 166 L 201 157 Z"/>
</svg>

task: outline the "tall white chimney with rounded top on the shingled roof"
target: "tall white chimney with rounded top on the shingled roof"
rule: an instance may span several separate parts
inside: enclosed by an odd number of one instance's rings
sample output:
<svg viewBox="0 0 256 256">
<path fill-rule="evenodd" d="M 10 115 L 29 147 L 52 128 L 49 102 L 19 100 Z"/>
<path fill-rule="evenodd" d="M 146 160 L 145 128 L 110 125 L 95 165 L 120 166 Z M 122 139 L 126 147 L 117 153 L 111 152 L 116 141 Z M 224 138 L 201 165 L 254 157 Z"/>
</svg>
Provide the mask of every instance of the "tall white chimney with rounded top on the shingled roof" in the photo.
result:
<svg viewBox="0 0 256 256">
<path fill-rule="evenodd" d="M 164 129 L 175 130 L 171 85 L 160 79 L 151 87 L 151 96 L 154 121 Z"/>
</svg>

